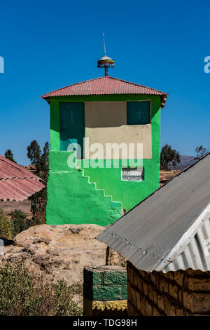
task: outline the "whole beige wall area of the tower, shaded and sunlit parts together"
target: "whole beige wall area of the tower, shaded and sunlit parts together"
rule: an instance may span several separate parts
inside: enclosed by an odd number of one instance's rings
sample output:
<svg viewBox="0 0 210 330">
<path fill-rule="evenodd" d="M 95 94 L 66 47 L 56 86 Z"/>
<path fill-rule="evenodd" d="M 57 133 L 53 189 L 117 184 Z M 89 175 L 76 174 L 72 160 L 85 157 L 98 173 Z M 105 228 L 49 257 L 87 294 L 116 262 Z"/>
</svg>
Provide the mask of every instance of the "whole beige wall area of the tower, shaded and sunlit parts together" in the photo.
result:
<svg viewBox="0 0 210 330">
<path fill-rule="evenodd" d="M 88 141 L 85 143 L 87 158 L 118 159 L 113 152 L 107 157 L 107 143 L 129 143 L 135 148 L 130 158 L 137 159 L 137 143 L 143 144 L 144 159 L 152 158 L 152 128 L 147 125 L 127 125 L 126 102 L 86 102 L 85 103 L 85 138 L 89 138 L 90 153 L 88 156 Z M 103 148 L 97 150 L 93 143 L 100 143 Z M 97 152 L 97 154 L 95 154 Z M 95 156 L 94 156 L 95 154 Z M 121 153 L 120 158 L 127 159 L 127 153 Z"/>
</svg>

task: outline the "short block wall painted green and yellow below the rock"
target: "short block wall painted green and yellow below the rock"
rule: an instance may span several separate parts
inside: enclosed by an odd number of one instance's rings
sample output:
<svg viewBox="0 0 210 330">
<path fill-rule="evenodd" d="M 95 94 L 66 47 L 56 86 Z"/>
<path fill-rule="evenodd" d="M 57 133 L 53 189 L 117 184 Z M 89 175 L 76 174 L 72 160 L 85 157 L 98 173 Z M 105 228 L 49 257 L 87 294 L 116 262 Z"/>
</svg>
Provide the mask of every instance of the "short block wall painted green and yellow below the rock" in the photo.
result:
<svg viewBox="0 0 210 330">
<path fill-rule="evenodd" d="M 116 265 L 84 268 L 83 314 L 127 315 L 127 271 Z"/>
</svg>

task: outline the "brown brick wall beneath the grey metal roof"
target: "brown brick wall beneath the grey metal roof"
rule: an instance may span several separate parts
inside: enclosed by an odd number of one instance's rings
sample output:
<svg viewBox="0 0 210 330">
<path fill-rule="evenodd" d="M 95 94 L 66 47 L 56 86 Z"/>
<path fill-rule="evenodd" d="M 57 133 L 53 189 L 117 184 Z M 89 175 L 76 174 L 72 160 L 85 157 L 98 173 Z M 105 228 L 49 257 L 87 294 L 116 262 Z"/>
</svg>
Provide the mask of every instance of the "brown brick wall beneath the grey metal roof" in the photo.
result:
<svg viewBox="0 0 210 330">
<path fill-rule="evenodd" d="M 210 315 L 210 272 L 144 272 L 127 263 L 128 315 Z"/>
</svg>

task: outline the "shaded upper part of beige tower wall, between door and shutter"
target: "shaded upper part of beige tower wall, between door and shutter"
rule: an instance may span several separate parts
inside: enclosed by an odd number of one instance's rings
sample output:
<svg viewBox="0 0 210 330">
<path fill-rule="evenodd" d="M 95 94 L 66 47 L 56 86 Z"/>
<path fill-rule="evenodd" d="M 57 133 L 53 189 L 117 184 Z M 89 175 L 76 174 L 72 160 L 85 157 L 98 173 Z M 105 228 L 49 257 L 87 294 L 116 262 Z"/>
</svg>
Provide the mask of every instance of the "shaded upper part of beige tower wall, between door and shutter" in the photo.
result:
<svg viewBox="0 0 210 330">
<path fill-rule="evenodd" d="M 85 102 L 86 127 L 118 127 L 126 124 L 126 102 Z"/>
</svg>

